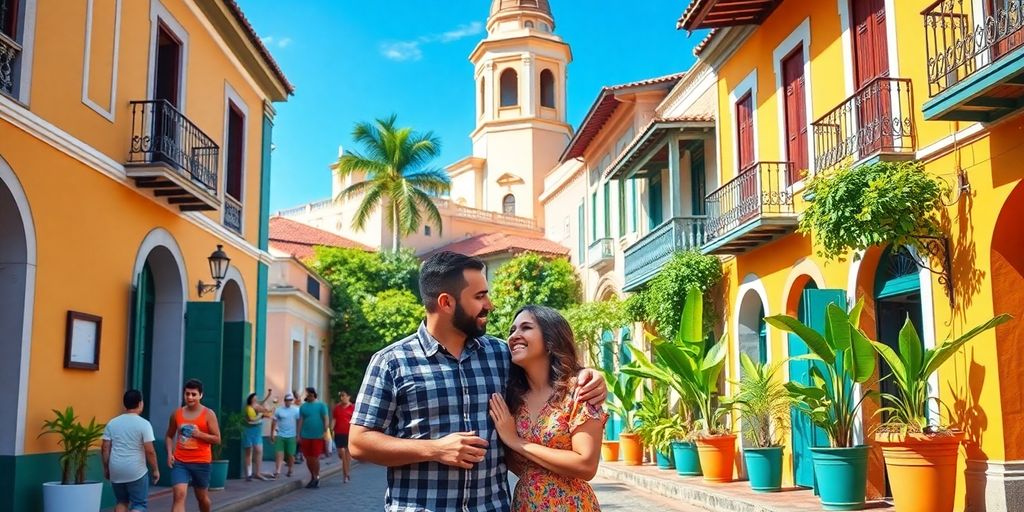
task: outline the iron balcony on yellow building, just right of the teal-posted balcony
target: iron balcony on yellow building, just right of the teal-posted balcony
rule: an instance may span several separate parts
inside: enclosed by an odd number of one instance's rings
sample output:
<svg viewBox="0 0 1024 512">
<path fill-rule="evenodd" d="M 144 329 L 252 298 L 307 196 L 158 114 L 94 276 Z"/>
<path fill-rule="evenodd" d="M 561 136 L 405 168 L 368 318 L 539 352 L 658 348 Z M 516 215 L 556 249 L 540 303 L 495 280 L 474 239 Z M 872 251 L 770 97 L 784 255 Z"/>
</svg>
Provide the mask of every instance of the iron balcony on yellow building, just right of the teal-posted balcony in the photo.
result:
<svg viewBox="0 0 1024 512">
<path fill-rule="evenodd" d="M 792 162 L 758 162 L 708 195 L 708 254 L 742 254 L 793 232 Z"/>
</svg>

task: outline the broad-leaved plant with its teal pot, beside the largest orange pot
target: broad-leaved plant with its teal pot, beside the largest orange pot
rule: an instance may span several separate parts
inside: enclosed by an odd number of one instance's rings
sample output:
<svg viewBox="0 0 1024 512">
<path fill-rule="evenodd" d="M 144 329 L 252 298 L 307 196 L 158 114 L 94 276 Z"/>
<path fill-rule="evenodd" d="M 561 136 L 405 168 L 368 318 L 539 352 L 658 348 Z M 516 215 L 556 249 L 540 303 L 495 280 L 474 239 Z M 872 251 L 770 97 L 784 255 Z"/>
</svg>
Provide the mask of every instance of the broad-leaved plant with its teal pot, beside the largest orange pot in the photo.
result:
<svg viewBox="0 0 1024 512">
<path fill-rule="evenodd" d="M 785 383 L 785 388 L 811 423 L 824 430 L 829 446 L 812 447 L 814 476 L 825 510 L 859 510 L 867 490 L 866 445 L 854 445 L 853 430 L 864 400 L 878 393 L 865 391 L 860 398 L 854 384 L 862 384 L 874 373 L 874 350 L 860 329 L 863 300 L 849 314 L 835 303 L 825 308 L 824 333 L 784 314 L 765 318 L 770 326 L 796 334 L 807 345 L 811 385 Z"/>
</svg>

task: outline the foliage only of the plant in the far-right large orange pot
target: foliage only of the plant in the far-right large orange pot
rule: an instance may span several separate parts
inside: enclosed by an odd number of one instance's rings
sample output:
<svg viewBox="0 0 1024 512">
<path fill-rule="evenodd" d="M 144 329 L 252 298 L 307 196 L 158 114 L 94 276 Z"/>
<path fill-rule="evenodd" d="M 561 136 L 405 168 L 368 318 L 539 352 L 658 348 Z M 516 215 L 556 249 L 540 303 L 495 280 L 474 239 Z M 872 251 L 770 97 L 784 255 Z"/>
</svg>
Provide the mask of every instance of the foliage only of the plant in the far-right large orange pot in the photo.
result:
<svg viewBox="0 0 1024 512">
<path fill-rule="evenodd" d="M 946 360 L 956 353 L 964 345 L 979 334 L 993 329 L 1012 319 L 1009 314 L 1000 314 L 963 336 L 943 343 L 935 348 L 924 349 L 921 337 L 910 319 L 903 324 L 899 332 L 899 351 L 889 345 L 872 341 L 871 346 L 879 352 L 892 374 L 887 378 L 896 384 L 896 394 L 882 393 L 885 401 L 890 403 L 879 410 L 890 415 L 883 430 L 896 430 L 902 433 L 934 433 L 944 430 L 940 425 L 932 423 L 928 417 L 928 403 L 937 397 L 928 396 L 928 380 Z M 941 402 L 940 402 L 941 403 Z"/>
</svg>

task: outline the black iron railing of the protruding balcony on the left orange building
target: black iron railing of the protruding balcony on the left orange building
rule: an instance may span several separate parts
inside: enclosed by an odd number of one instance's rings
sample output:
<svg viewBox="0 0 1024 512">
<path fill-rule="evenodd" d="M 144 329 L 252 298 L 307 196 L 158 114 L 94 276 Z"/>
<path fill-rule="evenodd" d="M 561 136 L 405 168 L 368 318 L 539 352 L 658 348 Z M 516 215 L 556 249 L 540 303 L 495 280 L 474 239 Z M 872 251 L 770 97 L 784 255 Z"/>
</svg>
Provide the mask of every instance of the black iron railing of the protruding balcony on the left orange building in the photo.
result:
<svg viewBox="0 0 1024 512">
<path fill-rule="evenodd" d="M 220 147 L 164 99 L 131 102 L 129 164 L 167 164 L 208 190 L 217 189 Z"/>
</svg>

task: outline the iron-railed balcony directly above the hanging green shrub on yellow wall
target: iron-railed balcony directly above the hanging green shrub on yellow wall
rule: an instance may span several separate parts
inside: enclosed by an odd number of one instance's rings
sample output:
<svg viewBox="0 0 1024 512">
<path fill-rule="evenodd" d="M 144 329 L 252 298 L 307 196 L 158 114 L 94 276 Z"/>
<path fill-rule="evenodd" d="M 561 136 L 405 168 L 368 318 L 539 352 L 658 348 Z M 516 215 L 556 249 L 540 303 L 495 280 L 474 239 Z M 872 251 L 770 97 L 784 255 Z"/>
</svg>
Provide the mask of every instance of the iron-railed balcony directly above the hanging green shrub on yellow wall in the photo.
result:
<svg viewBox="0 0 1024 512">
<path fill-rule="evenodd" d="M 918 150 L 912 84 L 905 78 L 877 78 L 811 123 L 811 129 L 816 172 L 873 158 L 912 159 Z"/>
</svg>

